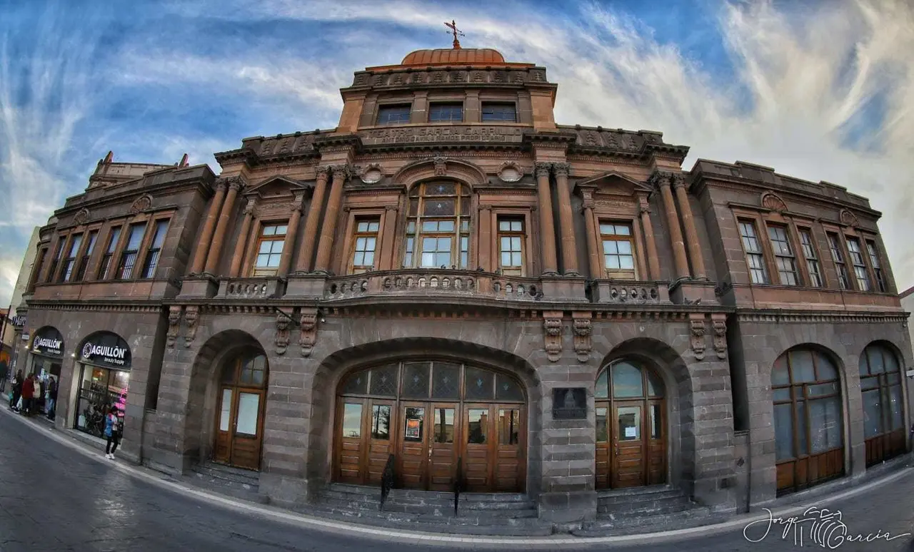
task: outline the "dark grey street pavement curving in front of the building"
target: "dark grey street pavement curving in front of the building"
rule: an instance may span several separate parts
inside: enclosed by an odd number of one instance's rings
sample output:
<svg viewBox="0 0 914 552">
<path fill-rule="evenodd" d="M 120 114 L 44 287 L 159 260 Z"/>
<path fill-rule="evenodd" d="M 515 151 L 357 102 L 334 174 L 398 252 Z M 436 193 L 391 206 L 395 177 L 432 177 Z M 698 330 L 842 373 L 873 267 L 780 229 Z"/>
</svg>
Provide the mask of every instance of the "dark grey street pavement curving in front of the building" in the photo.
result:
<svg viewBox="0 0 914 552">
<path fill-rule="evenodd" d="M 694 536 L 655 538 L 647 542 L 600 542 L 558 536 L 562 541 L 543 544 L 445 542 L 413 544 L 402 536 L 358 536 L 353 530 L 303 526 L 291 516 L 259 515 L 250 508 L 214 504 L 194 493 L 175 492 L 151 477 L 117 469 L 101 453 L 80 453 L 76 446 L 52 438 L 48 427 L 15 419 L 0 412 L 0 552 L 74 550 L 277 552 L 282 550 L 604 550 L 637 548 L 657 552 L 790 550 L 822 548 L 812 532 L 825 536 L 825 549 L 842 551 L 914 552 L 914 471 L 888 484 L 834 502 L 816 504 L 840 510 L 841 522 L 816 513 L 817 531 L 811 521 L 781 538 L 785 525 L 768 523 L 723 530 L 703 528 Z M 121 462 L 121 461 L 118 461 Z M 802 513 L 800 514 L 802 515 Z M 283 520 L 283 517 L 286 518 Z M 757 518 L 757 519 L 760 519 Z M 842 542 L 841 535 L 867 536 L 871 542 Z M 885 535 L 888 536 L 885 536 Z M 747 536 L 749 538 L 747 538 Z M 893 536 L 899 536 L 887 540 Z M 460 536 L 458 536 L 459 538 Z M 750 542 L 757 541 L 757 542 Z M 820 541 L 823 540 L 820 538 Z"/>
</svg>

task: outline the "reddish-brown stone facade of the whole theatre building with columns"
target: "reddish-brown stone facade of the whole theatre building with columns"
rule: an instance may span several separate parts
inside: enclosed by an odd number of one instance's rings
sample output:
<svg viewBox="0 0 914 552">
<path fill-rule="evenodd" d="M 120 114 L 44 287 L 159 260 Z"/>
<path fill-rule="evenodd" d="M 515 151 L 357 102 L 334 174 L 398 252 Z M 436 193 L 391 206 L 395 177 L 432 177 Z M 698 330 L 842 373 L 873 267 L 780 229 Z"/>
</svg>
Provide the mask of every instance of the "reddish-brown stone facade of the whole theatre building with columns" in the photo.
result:
<svg viewBox="0 0 914 552">
<path fill-rule="evenodd" d="M 184 473 L 213 453 L 226 360 L 262 349 L 260 492 L 291 505 L 333 478 L 336 390 L 348 370 L 423 356 L 477 362 L 526 387 L 525 491 L 541 517 L 570 522 L 596 514 L 595 381 L 612 360 L 633 359 L 664 382 L 667 481 L 735 510 L 776 495 L 771 367 L 811 345 L 841 371 L 845 474 L 862 474 L 858 357 L 878 341 L 903 370 L 914 363 L 880 214 L 834 184 L 749 163 L 699 160 L 684 172 L 688 149 L 659 132 L 557 125 L 558 87 L 545 68 L 474 56 L 358 71 L 336 129 L 245 139 L 216 154 L 218 176 L 186 160 L 100 161 L 85 193 L 42 228 L 19 311 L 27 322 L 17 343 L 45 326 L 65 339 L 58 425 L 73 427 L 78 414 L 83 340 L 114 332 L 133 355 L 122 449 Z M 462 120 L 430 122 L 441 102 L 462 105 Z M 494 105 L 514 106 L 515 120 L 488 120 Z M 402 122 L 379 119 L 391 106 L 406 106 Z M 467 191 L 465 260 L 455 252 L 452 266 L 407 266 L 410 193 L 430 181 Z M 356 226 L 369 219 L 374 262 L 352 274 Z M 504 220 L 523 222 L 516 274 L 501 262 Z M 740 237 L 747 221 L 767 271 L 760 283 Z M 145 231 L 130 271 L 121 265 L 132 224 Z M 287 226 L 269 274 L 256 268 L 266 224 Z M 631 269 L 607 265 L 606 224 L 630 230 Z M 113 226 L 121 234 L 110 244 Z M 770 226 L 791 240 L 796 285 L 781 280 L 790 276 L 780 274 Z M 821 286 L 803 252 L 807 230 Z M 68 278 L 74 234 L 87 269 Z M 852 281 L 842 288 L 828 234 L 865 247 L 871 290 L 847 249 Z M 106 276 L 109 248 L 116 270 Z M 553 419 L 557 387 L 587 390 L 586 419 Z"/>
</svg>

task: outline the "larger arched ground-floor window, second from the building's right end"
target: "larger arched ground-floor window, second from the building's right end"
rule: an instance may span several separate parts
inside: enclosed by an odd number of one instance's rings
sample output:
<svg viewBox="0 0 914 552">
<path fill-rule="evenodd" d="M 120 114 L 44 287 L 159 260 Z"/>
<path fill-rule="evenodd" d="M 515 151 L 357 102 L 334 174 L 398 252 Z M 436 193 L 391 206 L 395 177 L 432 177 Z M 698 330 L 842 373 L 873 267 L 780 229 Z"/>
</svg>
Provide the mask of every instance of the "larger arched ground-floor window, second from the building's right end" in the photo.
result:
<svg viewBox="0 0 914 552">
<path fill-rule="evenodd" d="M 778 493 L 844 474 L 844 423 L 838 370 L 824 353 L 791 349 L 774 361 Z"/>
</svg>

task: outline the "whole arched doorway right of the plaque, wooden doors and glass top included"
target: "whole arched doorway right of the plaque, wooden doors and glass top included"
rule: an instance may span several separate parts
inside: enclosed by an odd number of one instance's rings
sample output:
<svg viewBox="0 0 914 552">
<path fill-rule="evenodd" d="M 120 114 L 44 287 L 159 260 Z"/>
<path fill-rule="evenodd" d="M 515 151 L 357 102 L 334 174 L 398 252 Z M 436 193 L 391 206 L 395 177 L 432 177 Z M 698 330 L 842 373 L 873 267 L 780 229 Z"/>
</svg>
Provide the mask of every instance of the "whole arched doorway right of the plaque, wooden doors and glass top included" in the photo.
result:
<svg viewBox="0 0 914 552">
<path fill-rule="evenodd" d="M 597 488 L 666 482 L 664 382 L 632 360 L 600 372 L 594 390 Z"/>
</svg>

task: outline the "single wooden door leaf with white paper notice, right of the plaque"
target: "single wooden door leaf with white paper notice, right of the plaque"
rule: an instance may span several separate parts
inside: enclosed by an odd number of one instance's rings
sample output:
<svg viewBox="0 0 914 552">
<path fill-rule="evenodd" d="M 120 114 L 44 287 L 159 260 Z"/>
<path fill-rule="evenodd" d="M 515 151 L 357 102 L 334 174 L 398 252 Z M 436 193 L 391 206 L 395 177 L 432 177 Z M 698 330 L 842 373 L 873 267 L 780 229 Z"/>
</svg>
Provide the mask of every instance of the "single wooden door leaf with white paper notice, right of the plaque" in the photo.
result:
<svg viewBox="0 0 914 552">
<path fill-rule="evenodd" d="M 617 402 L 612 409 L 612 487 L 636 487 L 644 481 L 643 402 Z"/>
</svg>

